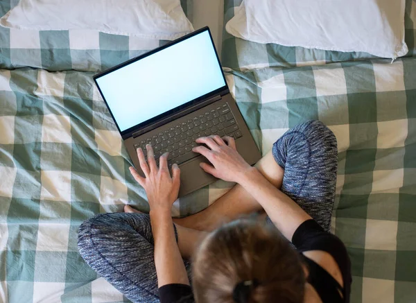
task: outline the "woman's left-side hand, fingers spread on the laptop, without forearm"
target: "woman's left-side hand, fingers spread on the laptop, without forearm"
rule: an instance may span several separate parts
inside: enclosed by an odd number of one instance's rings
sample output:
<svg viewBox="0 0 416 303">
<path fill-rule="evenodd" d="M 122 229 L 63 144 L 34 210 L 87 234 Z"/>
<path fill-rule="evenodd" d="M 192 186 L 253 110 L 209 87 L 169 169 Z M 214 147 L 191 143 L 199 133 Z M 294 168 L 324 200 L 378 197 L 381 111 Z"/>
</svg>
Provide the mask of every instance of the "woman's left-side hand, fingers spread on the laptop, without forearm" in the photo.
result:
<svg viewBox="0 0 416 303">
<path fill-rule="evenodd" d="M 171 214 L 173 202 L 175 202 L 179 193 L 179 166 L 173 164 L 171 177 L 168 169 L 168 153 L 164 153 L 159 158 L 159 167 L 157 167 L 152 146 L 150 144 L 146 145 L 146 150 L 148 162 L 144 159 L 143 150 L 137 148 L 140 168 L 146 178 L 142 178 L 132 166 L 130 166 L 130 173 L 146 191 L 150 211 L 168 211 L 168 214 Z"/>
</svg>

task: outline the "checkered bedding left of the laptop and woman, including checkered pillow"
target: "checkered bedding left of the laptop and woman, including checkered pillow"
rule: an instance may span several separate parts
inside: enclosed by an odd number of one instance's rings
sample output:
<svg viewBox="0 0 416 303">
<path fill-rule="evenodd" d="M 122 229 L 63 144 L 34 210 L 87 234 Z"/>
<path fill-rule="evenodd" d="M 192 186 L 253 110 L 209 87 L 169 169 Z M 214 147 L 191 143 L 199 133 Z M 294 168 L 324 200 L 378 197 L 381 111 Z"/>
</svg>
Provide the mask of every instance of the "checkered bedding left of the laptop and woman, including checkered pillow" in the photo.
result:
<svg viewBox="0 0 416 303">
<path fill-rule="evenodd" d="M 0 302 L 129 302 L 77 250 L 86 218 L 148 210 L 92 76 L 165 43 L 0 27 Z"/>
</svg>

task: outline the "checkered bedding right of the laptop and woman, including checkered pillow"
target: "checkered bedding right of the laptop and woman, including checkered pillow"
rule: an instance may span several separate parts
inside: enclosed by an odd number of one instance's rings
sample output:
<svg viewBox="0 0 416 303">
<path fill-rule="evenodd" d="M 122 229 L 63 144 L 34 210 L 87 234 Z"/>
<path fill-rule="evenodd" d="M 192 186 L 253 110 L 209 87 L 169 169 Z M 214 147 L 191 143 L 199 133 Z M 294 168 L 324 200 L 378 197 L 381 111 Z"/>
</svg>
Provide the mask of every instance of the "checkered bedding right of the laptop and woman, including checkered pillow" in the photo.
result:
<svg viewBox="0 0 416 303">
<path fill-rule="evenodd" d="M 241 0 L 225 0 L 225 20 Z M 395 60 L 257 44 L 223 35 L 223 67 L 263 154 L 288 128 L 318 119 L 338 140 L 332 231 L 352 259 L 351 302 L 416 298 L 416 2 L 409 53 Z"/>
</svg>

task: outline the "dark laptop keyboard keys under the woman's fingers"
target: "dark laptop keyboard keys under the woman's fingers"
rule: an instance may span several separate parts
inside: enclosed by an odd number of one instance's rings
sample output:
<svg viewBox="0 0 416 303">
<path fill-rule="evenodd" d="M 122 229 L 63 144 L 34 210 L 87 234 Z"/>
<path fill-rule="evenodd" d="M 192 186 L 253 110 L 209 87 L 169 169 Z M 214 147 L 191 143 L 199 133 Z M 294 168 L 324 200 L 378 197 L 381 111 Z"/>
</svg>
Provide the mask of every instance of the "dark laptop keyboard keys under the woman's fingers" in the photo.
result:
<svg viewBox="0 0 416 303">
<path fill-rule="evenodd" d="M 234 139 L 243 137 L 227 104 L 199 114 L 158 135 L 143 139 L 139 144 L 135 144 L 135 148 L 141 147 L 147 160 L 146 144 L 151 144 L 157 163 L 159 157 L 168 152 L 168 166 L 172 166 L 174 163 L 182 164 L 198 157 L 200 154 L 192 152 L 192 148 L 201 145 L 196 143 L 196 139 L 211 135 L 229 136 Z"/>
</svg>

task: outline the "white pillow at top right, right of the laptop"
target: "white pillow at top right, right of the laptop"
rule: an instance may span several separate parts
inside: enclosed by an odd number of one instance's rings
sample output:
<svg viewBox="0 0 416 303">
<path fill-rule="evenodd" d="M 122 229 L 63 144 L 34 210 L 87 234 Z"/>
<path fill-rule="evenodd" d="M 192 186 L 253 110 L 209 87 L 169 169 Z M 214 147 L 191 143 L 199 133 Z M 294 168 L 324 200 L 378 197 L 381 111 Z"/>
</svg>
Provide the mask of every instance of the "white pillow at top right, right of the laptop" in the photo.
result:
<svg viewBox="0 0 416 303">
<path fill-rule="evenodd" d="M 406 55 L 406 0 L 243 0 L 226 30 L 258 43 Z"/>
</svg>

